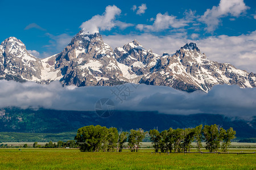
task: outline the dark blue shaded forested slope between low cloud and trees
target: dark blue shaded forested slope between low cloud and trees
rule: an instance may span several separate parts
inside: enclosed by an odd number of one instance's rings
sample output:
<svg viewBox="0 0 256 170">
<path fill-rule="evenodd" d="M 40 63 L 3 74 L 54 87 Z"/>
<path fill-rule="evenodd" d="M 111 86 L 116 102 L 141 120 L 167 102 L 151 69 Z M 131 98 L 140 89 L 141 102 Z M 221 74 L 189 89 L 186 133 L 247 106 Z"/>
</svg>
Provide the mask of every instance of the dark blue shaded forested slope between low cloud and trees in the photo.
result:
<svg viewBox="0 0 256 170">
<path fill-rule="evenodd" d="M 158 130 L 162 131 L 169 128 L 191 128 L 200 124 L 203 126 L 217 124 L 224 129 L 232 127 L 237 131 L 237 137 L 256 137 L 255 116 L 251 120 L 242 120 L 221 114 L 179 115 L 162 114 L 156 111 L 115 110 L 112 116 L 102 118 L 95 111 L 58 111 L 43 108 L 36 111 L 20 108 L 0 109 L 0 131 L 18 133 L 63 133 L 76 131 L 87 125 L 122 128 L 124 131 L 137 128 L 150 130 L 158 127 Z"/>
</svg>

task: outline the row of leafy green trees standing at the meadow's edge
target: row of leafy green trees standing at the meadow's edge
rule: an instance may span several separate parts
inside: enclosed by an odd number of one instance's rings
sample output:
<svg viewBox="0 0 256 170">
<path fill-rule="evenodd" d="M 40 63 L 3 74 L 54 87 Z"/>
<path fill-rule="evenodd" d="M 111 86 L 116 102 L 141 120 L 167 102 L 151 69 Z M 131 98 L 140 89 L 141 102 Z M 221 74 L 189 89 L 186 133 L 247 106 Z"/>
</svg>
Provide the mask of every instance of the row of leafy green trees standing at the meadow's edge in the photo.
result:
<svg viewBox="0 0 256 170">
<path fill-rule="evenodd" d="M 193 141 L 197 144 L 197 150 L 201 151 L 204 140 L 205 148 L 210 152 L 217 151 L 222 142 L 221 148 L 226 151 L 231 140 L 236 138 L 236 131 L 233 128 L 225 130 L 217 125 L 199 125 L 196 128 L 168 129 L 159 132 L 156 129 L 144 131 L 143 129 L 131 129 L 129 132 L 117 130 L 117 128 L 106 128 L 100 125 L 84 126 L 77 130 L 75 140 L 82 152 L 90 151 L 116 151 L 121 152 L 123 143 L 128 142 L 132 152 L 138 151 L 142 140 L 150 136 L 150 141 L 158 152 L 187 152 Z"/>
</svg>

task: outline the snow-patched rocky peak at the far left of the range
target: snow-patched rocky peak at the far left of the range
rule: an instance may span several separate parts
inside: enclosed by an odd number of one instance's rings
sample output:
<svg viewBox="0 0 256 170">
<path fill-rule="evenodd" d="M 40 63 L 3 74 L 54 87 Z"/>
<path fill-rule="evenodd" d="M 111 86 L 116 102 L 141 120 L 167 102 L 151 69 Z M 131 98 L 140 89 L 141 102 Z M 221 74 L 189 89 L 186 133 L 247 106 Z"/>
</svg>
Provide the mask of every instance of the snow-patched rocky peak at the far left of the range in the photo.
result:
<svg viewBox="0 0 256 170">
<path fill-rule="evenodd" d="M 16 37 L 9 37 L 0 45 L 0 77 L 24 82 L 40 81 L 40 59 L 27 52 L 26 46 Z"/>
</svg>

